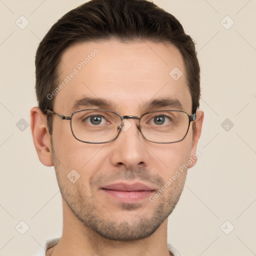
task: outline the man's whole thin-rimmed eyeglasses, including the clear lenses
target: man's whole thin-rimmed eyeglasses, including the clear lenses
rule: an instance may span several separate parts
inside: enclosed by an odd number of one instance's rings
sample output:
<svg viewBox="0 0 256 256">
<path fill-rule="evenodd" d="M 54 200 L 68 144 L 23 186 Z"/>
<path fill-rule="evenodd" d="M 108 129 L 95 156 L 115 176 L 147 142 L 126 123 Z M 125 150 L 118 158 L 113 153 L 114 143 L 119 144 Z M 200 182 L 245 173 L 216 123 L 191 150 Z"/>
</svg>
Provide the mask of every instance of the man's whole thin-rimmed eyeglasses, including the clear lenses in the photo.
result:
<svg viewBox="0 0 256 256">
<path fill-rule="evenodd" d="M 121 129 L 127 130 L 125 119 L 137 119 L 137 128 L 143 137 L 154 143 L 174 143 L 186 136 L 191 121 L 196 114 L 189 115 L 181 110 L 156 110 L 142 114 L 121 116 L 106 109 L 82 109 L 70 116 L 46 110 L 61 119 L 70 120 L 73 136 L 85 143 L 107 143 L 115 140 Z M 126 127 L 125 127 L 126 125 Z"/>
</svg>

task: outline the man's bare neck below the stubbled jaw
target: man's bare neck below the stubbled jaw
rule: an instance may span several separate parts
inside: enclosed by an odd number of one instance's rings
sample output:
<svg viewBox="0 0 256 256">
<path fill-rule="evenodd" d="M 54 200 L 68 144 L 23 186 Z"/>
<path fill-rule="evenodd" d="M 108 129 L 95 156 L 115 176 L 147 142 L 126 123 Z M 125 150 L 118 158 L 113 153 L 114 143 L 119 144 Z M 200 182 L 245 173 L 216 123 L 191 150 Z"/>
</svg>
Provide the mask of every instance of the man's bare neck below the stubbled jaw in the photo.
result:
<svg viewBox="0 0 256 256">
<path fill-rule="evenodd" d="M 63 202 L 63 230 L 59 242 L 46 251 L 47 256 L 162 255 L 167 248 L 167 219 L 150 236 L 131 241 L 115 241 L 102 237 L 84 226 Z"/>
</svg>

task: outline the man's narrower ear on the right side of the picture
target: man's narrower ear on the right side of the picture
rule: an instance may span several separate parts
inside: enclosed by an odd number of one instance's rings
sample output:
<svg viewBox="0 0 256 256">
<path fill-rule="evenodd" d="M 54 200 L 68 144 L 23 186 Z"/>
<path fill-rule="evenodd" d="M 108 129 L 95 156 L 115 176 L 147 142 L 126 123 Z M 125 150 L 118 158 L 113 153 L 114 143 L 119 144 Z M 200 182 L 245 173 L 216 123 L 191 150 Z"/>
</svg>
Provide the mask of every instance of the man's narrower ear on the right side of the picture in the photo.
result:
<svg viewBox="0 0 256 256">
<path fill-rule="evenodd" d="M 203 116 L 204 116 L 203 111 L 200 109 L 197 109 L 196 120 L 193 122 L 193 125 L 194 125 L 193 141 L 192 141 L 192 146 L 190 150 L 190 159 L 192 163 L 189 164 L 188 168 L 191 168 L 192 166 L 194 166 L 194 164 L 197 162 L 198 156 L 201 155 L 200 152 L 196 152 L 196 147 L 197 147 L 199 137 L 201 135 Z"/>
</svg>

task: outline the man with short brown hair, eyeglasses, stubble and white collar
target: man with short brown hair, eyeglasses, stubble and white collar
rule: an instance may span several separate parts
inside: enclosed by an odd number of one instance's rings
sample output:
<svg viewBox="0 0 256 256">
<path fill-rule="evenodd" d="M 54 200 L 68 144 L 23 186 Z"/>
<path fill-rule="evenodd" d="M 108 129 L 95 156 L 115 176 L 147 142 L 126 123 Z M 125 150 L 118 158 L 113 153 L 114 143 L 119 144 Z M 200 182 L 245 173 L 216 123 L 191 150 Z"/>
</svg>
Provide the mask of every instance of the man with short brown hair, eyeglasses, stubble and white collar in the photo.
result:
<svg viewBox="0 0 256 256">
<path fill-rule="evenodd" d="M 55 168 L 63 230 L 34 255 L 180 255 L 167 217 L 196 162 L 203 112 L 178 20 L 146 0 L 91 0 L 51 27 L 35 65 L 31 130 Z"/>
</svg>

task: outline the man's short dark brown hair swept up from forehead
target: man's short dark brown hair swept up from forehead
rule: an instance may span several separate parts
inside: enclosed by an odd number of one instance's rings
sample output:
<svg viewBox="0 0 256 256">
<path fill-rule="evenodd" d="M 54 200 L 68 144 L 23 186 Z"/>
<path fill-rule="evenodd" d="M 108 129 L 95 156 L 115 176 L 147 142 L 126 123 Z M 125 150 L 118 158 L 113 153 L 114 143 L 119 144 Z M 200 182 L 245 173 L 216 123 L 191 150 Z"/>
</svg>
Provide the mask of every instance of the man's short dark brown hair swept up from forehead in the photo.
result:
<svg viewBox="0 0 256 256">
<path fill-rule="evenodd" d="M 90 0 L 63 15 L 46 33 L 35 56 L 38 107 L 53 110 L 48 99 L 58 83 L 58 65 L 64 50 L 77 42 L 117 38 L 149 40 L 175 45 L 184 61 L 192 97 L 192 113 L 199 106 L 200 67 L 192 38 L 170 13 L 147 0 Z M 52 118 L 48 116 L 51 134 Z"/>
</svg>

